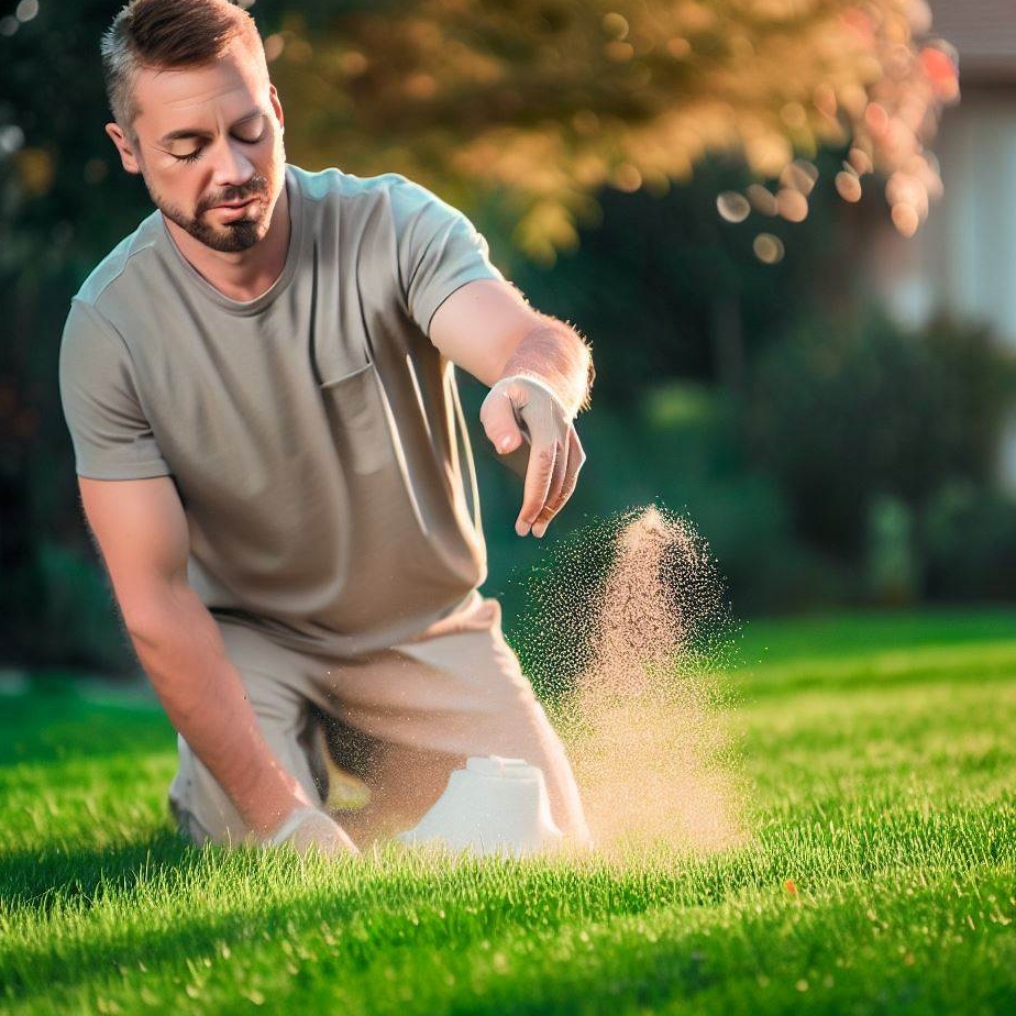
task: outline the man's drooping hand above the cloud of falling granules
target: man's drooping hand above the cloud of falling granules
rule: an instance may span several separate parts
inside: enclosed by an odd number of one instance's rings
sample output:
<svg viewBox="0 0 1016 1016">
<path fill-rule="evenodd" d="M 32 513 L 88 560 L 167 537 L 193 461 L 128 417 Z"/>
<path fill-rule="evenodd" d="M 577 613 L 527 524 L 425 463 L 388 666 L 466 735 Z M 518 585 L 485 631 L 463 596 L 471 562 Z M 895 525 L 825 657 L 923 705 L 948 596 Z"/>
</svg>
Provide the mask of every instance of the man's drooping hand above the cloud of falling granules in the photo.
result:
<svg viewBox="0 0 1016 1016">
<path fill-rule="evenodd" d="M 586 461 L 574 423 L 549 386 L 524 375 L 503 377 L 484 399 L 479 419 L 498 454 L 510 454 L 526 439 L 532 445 L 515 531 L 542 537 Z"/>
</svg>

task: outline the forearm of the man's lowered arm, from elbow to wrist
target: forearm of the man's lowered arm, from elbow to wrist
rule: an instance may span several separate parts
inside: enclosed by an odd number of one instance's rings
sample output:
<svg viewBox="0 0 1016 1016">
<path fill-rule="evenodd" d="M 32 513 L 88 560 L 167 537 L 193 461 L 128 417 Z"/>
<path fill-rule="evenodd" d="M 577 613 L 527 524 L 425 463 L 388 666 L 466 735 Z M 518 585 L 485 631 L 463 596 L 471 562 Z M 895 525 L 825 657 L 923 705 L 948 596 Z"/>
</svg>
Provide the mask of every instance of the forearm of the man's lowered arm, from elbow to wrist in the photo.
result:
<svg viewBox="0 0 1016 1016">
<path fill-rule="evenodd" d="M 251 828 L 263 835 L 298 805 L 317 804 L 265 741 L 218 626 L 189 586 L 167 589 L 129 630 L 169 721 Z"/>
</svg>

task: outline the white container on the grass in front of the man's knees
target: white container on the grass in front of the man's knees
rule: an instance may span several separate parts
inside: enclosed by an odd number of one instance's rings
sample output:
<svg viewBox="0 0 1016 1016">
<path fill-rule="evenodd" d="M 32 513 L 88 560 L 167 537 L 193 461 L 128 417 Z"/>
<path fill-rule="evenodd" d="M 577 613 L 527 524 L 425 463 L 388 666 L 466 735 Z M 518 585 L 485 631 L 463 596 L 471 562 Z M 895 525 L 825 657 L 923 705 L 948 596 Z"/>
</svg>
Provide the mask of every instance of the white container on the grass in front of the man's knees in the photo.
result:
<svg viewBox="0 0 1016 1016">
<path fill-rule="evenodd" d="M 471 755 L 430 810 L 396 839 L 479 855 L 522 857 L 553 849 L 564 836 L 551 818 L 541 769 L 523 759 Z"/>
</svg>

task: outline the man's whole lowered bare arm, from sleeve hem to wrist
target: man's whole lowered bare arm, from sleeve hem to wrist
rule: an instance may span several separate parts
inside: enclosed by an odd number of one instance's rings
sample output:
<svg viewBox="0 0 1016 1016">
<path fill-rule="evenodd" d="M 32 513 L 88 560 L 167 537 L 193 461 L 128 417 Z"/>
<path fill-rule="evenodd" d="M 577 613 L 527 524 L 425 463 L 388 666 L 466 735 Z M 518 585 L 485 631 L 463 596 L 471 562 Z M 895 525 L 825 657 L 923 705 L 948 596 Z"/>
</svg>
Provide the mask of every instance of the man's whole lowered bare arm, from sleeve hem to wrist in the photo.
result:
<svg viewBox="0 0 1016 1016">
<path fill-rule="evenodd" d="M 78 484 L 131 641 L 173 726 L 258 836 L 296 808 L 318 807 L 265 741 L 219 628 L 187 582 L 189 534 L 173 481 Z"/>
</svg>

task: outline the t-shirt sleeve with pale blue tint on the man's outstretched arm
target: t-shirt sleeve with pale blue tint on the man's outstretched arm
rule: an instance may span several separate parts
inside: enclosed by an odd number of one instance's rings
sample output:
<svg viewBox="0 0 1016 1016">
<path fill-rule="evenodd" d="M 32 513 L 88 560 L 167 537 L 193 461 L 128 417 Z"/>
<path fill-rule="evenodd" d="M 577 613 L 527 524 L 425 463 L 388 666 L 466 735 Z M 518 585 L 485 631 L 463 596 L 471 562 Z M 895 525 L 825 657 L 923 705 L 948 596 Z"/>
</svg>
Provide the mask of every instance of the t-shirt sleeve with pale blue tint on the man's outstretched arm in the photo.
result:
<svg viewBox="0 0 1016 1016">
<path fill-rule="evenodd" d="M 391 187 L 399 284 L 410 317 L 430 335 L 434 311 L 474 279 L 504 280 L 486 238 L 457 209 L 402 177 Z"/>
</svg>

